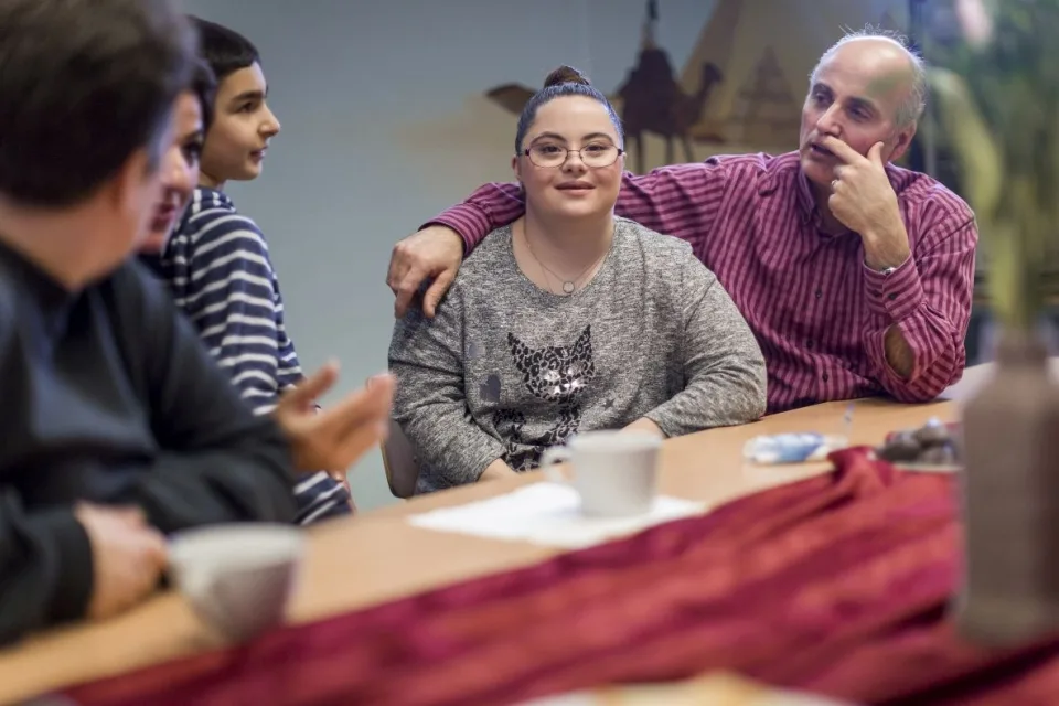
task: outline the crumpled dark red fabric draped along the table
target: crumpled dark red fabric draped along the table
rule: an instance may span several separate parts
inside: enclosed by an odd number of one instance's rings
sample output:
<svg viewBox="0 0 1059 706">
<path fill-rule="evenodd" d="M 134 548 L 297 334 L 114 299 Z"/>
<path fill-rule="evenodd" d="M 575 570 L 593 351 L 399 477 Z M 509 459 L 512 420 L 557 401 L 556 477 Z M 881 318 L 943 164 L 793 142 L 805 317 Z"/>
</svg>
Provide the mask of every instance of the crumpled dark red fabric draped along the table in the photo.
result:
<svg viewBox="0 0 1059 706">
<path fill-rule="evenodd" d="M 1059 704 L 1059 641 L 988 653 L 946 619 L 952 477 L 837 471 L 527 569 L 69 693 L 85 706 L 511 703 L 734 670 L 875 704 Z"/>
</svg>

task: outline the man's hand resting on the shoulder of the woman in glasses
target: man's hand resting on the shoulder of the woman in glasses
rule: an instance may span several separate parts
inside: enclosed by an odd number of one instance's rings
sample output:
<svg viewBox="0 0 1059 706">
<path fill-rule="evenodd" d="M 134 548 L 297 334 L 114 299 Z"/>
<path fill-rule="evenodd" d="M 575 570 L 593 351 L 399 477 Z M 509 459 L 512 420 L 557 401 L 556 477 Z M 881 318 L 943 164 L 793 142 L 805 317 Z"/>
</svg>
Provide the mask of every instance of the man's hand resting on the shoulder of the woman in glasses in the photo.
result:
<svg viewBox="0 0 1059 706">
<path fill-rule="evenodd" d="M 431 225 L 394 246 L 386 284 L 397 296 L 394 314 L 400 319 L 415 303 L 419 288 L 432 279 L 422 296 L 422 312 L 432 319 L 463 259 L 463 238 L 450 227 Z"/>
</svg>

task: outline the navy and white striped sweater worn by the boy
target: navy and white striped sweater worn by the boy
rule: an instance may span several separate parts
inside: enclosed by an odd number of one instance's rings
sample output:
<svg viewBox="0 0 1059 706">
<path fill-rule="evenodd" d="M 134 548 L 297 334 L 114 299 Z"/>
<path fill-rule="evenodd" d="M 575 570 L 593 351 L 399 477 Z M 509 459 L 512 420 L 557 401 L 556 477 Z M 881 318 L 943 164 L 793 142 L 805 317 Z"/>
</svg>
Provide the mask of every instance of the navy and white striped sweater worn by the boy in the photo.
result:
<svg viewBox="0 0 1059 706">
<path fill-rule="evenodd" d="M 302 372 L 257 224 L 240 215 L 226 194 L 200 186 L 165 252 L 143 259 L 169 286 L 255 414 L 272 411 Z M 323 472 L 303 478 L 295 495 L 302 524 L 351 510 L 345 486 Z"/>
</svg>

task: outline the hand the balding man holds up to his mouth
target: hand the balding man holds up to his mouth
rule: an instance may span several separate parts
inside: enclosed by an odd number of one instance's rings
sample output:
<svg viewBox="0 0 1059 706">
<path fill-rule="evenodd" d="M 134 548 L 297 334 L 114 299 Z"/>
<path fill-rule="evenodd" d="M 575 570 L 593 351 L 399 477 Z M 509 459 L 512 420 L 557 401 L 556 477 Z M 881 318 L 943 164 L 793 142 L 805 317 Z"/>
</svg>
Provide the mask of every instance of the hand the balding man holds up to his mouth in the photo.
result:
<svg viewBox="0 0 1059 706">
<path fill-rule="evenodd" d="M 827 206 L 832 214 L 860 235 L 869 267 L 899 267 L 910 255 L 908 233 L 886 175 L 882 143 L 873 145 L 867 157 L 836 137 L 827 136 L 822 143 L 842 161 L 831 182 Z"/>
</svg>

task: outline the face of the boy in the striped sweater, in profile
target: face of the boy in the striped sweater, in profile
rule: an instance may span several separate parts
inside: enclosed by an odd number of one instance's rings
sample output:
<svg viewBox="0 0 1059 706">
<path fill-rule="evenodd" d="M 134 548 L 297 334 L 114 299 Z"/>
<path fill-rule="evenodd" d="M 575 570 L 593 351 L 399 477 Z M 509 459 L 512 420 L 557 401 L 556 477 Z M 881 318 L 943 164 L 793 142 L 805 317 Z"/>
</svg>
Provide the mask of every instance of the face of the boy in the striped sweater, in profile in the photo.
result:
<svg viewBox="0 0 1059 706">
<path fill-rule="evenodd" d="M 280 127 L 265 101 L 267 94 L 260 64 L 224 77 L 202 153 L 204 175 L 220 183 L 256 179 L 261 173 L 268 141 L 279 135 Z"/>
</svg>

